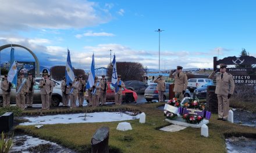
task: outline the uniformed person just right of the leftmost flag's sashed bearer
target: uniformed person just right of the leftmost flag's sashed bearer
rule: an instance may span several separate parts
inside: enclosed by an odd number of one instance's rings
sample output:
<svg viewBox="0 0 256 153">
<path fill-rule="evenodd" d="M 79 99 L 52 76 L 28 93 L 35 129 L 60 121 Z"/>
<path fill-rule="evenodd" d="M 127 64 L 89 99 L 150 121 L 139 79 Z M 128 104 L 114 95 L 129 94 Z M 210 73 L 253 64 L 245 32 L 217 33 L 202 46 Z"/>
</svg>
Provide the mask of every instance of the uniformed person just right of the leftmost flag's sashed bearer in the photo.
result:
<svg viewBox="0 0 256 153">
<path fill-rule="evenodd" d="M 33 94 L 34 94 L 34 84 L 35 84 L 35 79 L 33 78 L 32 74 L 29 73 L 29 78 L 27 78 L 27 96 L 26 96 L 26 103 L 27 103 L 27 108 L 31 108 L 33 105 Z"/>
</svg>

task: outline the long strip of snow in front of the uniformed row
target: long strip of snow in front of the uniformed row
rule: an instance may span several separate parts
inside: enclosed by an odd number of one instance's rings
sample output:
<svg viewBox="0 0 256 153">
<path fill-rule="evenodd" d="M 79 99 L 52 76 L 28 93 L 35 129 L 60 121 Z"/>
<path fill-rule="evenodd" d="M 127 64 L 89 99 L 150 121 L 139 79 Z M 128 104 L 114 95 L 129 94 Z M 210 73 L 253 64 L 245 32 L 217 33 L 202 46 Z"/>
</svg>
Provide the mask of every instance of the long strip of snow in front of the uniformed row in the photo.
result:
<svg viewBox="0 0 256 153">
<path fill-rule="evenodd" d="M 29 116 L 29 117 L 23 118 L 23 119 L 27 119 L 29 122 L 20 123 L 20 125 L 115 122 L 115 121 L 126 121 L 126 120 L 139 118 L 138 115 L 130 116 L 127 114 L 122 114 L 121 116 L 120 112 L 94 112 L 94 113 L 87 113 L 86 120 L 84 120 L 84 115 L 85 113 Z"/>
</svg>

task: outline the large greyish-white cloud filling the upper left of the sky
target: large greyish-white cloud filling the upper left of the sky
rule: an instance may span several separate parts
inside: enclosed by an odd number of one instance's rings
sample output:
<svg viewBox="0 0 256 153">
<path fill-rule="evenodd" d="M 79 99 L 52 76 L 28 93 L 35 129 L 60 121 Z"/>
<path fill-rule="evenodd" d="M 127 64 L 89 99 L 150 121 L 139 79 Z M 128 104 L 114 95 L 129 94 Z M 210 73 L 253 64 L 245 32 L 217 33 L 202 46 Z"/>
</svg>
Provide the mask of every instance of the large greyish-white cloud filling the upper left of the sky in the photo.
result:
<svg viewBox="0 0 256 153">
<path fill-rule="evenodd" d="M 111 14 L 88 1 L 1 1 L 0 30 L 83 28 L 106 23 Z"/>
</svg>

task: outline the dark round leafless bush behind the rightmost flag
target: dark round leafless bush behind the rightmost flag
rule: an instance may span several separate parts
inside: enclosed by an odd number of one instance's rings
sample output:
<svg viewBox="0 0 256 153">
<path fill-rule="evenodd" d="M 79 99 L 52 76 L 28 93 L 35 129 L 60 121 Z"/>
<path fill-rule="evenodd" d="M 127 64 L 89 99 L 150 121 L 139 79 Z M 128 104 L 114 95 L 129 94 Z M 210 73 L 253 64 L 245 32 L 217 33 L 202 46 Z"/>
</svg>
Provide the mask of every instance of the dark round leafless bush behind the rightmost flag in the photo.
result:
<svg viewBox="0 0 256 153">
<path fill-rule="evenodd" d="M 143 80 L 144 67 L 141 63 L 135 62 L 116 62 L 116 69 L 118 74 L 122 75 L 122 81 L 129 80 Z M 113 65 L 108 65 L 108 81 L 111 81 L 113 72 Z"/>
</svg>

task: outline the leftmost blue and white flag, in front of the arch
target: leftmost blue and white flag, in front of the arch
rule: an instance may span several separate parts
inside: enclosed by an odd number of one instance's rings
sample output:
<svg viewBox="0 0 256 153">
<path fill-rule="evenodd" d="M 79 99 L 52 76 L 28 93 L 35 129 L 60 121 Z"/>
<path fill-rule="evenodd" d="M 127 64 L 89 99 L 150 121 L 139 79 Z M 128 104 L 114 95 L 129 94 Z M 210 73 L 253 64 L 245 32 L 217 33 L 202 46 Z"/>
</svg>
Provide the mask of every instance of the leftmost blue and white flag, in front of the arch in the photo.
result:
<svg viewBox="0 0 256 153">
<path fill-rule="evenodd" d="M 10 68 L 8 72 L 7 80 L 17 85 L 17 66 L 16 61 L 14 59 L 14 48 L 10 50 Z"/>
</svg>

